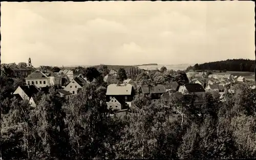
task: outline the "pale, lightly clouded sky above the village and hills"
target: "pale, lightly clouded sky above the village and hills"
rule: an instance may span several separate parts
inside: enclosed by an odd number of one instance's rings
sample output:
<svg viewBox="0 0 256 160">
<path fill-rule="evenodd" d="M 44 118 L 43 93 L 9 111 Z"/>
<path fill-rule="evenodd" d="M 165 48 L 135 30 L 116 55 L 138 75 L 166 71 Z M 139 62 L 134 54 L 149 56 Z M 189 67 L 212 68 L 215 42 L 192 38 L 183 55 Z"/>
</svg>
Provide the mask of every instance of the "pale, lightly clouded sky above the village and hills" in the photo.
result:
<svg viewBox="0 0 256 160">
<path fill-rule="evenodd" d="M 1 2 L 1 63 L 255 59 L 253 1 Z"/>
</svg>

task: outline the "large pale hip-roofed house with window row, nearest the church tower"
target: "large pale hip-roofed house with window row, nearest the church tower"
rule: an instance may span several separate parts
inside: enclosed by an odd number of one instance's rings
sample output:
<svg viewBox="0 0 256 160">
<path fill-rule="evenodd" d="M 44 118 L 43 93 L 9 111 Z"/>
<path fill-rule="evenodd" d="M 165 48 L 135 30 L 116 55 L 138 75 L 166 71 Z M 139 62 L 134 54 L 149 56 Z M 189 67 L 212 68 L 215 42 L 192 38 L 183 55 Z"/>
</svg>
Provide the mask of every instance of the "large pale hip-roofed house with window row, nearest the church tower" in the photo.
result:
<svg viewBox="0 0 256 160">
<path fill-rule="evenodd" d="M 49 76 L 47 76 L 47 75 Z M 48 86 L 61 86 L 61 77 L 55 75 L 54 73 L 43 73 L 39 70 L 34 71 L 28 75 L 25 80 L 27 85 L 35 85 L 39 87 L 48 87 Z"/>
</svg>

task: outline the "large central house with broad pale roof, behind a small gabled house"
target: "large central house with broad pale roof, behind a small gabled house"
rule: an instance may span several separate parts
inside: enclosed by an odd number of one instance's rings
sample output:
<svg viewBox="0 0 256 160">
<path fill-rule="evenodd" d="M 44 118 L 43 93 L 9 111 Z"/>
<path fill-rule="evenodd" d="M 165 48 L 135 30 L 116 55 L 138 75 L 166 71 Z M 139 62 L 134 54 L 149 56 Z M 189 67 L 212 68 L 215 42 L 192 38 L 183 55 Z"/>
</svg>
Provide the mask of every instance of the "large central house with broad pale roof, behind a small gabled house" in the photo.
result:
<svg viewBox="0 0 256 160">
<path fill-rule="evenodd" d="M 131 106 L 134 95 L 134 87 L 130 84 L 111 84 L 108 86 L 108 88 L 106 88 L 106 101 L 116 97 L 117 99 L 122 99 L 127 104 L 129 104 L 129 106 Z"/>
</svg>

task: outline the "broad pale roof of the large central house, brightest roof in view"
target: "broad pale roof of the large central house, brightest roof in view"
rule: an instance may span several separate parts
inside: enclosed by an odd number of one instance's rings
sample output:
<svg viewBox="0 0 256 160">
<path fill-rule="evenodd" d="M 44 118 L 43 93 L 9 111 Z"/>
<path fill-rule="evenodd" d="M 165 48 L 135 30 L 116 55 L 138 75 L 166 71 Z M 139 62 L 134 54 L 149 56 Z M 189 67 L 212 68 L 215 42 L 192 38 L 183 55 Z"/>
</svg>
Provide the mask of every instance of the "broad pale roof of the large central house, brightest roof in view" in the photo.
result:
<svg viewBox="0 0 256 160">
<path fill-rule="evenodd" d="M 131 95 L 133 86 L 111 84 L 106 88 L 106 95 Z"/>
</svg>

